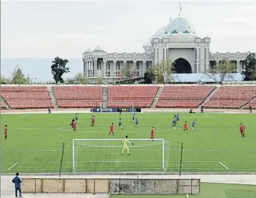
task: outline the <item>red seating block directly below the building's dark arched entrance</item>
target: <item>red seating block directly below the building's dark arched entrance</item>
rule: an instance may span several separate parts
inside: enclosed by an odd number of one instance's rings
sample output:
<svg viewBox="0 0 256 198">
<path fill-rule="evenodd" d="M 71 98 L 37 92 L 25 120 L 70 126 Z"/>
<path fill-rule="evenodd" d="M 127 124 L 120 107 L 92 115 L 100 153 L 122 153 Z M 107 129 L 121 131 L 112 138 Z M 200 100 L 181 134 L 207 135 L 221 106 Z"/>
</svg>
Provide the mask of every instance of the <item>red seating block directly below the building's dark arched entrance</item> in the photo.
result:
<svg viewBox="0 0 256 198">
<path fill-rule="evenodd" d="M 216 86 L 164 86 L 156 107 L 199 107 Z"/>
</svg>

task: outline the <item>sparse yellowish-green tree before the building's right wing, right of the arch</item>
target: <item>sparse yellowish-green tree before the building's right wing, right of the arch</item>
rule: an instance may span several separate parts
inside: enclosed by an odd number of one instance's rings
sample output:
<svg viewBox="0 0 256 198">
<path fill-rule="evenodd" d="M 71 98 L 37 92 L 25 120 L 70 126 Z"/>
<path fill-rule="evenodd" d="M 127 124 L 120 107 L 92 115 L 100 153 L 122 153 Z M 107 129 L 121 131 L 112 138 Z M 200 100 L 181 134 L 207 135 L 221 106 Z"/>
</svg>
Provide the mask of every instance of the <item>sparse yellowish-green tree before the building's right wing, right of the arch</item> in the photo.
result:
<svg viewBox="0 0 256 198">
<path fill-rule="evenodd" d="M 220 61 L 214 68 L 205 70 L 205 76 L 222 84 L 225 80 L 234 80 L 234 73 L 232 72 L 236 72 L 235 63 L 230 61 Z"/>
</svg>

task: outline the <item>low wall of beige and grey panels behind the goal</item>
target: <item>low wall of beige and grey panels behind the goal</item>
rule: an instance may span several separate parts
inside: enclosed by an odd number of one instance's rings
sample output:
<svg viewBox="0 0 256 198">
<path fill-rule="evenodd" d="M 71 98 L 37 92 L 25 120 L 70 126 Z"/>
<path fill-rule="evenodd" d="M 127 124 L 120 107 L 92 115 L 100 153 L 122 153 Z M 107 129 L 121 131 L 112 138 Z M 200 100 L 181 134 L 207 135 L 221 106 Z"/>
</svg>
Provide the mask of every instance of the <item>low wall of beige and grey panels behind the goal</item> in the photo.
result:
<svg viewBox="0 0 256 198">
<path fill-rule="evenodd" d="M 199 179 L 24 178 L 24 193 L 199 194 Z"/>
</svg>

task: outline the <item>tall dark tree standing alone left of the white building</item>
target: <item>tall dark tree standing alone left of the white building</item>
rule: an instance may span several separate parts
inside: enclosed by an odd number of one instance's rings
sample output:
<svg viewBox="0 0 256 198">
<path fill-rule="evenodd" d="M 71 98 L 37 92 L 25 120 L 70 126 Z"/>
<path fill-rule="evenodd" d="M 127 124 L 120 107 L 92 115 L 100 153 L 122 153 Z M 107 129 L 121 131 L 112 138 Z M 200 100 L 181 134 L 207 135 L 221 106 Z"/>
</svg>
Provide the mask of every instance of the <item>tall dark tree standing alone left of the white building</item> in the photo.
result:
<svg viewBox="0 0 256 198">
<path fill-rule="evenodd" d="M 53 74 L 53 80 L 55 80 L 55 83 L 58 82 L 63 83 L 64 80 L 62 78 L 64 73 L 69 72 L 69 67 L 66 66 L 66 64 L 69 62 L 67 59 L 61 59 L 59 57 L 55 57 L 54 61 L 52 61 L 53 64 L 51 64 L 51 74 Z"/>
</svg>

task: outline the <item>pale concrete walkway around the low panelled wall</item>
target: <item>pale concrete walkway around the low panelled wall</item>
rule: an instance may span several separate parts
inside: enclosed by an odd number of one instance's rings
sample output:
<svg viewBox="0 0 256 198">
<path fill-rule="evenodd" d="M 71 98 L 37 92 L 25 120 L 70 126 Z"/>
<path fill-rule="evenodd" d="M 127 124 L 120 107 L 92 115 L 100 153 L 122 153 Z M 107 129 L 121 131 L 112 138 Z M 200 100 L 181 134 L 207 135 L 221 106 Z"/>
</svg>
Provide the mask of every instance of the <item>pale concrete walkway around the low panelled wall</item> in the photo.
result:
<svg viewBox="0 0 256 198">
<path fill-rule="evenodd" d="M 20 176 L 21 178 L 40 178 L 46 176 Z M 47 176 L 49 178 L 54 178 L 56 176 Z M 222 184 L 249 184 L 256 185 L 256 174 L 255 175 L 183 175 L 183 176 L 175 176 L 175 175 L 140 175 L 140 176 L 61 176 L 61 178 L 199 178 L 203 183 L 222 183 Z M 11 198 L 15 197 L 14 186 L 11 183 L 13 176 L 1 176 L 1 198 Z M 56 197 L 56 198 L 106 198 L 107 194 L 49 194 L 49 193 L 37 193 L 33 194 L 24 194 L 23 197 L 27 198 L 43 198 L 43 197 Z"/>
</svg>

